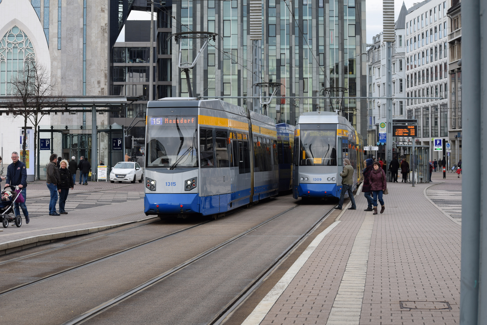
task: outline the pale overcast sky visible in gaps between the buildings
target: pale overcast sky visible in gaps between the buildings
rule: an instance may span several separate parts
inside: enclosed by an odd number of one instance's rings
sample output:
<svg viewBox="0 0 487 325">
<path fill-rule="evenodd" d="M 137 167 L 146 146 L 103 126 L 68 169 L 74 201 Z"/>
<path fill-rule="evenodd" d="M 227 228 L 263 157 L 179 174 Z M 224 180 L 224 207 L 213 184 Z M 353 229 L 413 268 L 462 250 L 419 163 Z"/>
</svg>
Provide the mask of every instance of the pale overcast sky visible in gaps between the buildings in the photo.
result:
<svg viewBox="0 0 487 325">
<path fill-rule="evenodd" d="M 406 5 L 406 9 L 412 7 L 413 3 L 421 2 L 420 0 L 394 0 L 394 19 L 399 16 L 402 3 Z M 367 43 L 372 43 L 372 37 L 382 32 L 382 0 L 366 0 L 366 21 L 367 21 Z M 132 11 L 128 18 L 129 20 L 149 20 L 150 13 L 141 11 Z M 123 42 L 125 40 L 125 27 L 120 33 L 117 41 Z"/>
</svg>

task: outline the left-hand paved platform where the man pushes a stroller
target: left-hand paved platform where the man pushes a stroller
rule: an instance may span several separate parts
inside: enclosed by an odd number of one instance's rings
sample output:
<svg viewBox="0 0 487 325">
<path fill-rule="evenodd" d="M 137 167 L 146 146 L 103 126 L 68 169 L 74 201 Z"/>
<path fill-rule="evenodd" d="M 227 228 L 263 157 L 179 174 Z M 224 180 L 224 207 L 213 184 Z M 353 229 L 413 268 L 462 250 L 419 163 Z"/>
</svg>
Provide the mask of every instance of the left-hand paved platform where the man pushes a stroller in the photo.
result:
<svg viewBox="0 0 487 325">
<path fill-rule="evenodd" d="M 0 232 L 0 254 L 148 219 L 150 217 L 143 213 L 143 186 L 109 182 L 77 185 L 66 201 L 68 214 L 50 216 L 49 191 L 45 182 L 29 184 L 26 205 L 31 221 L 26 224 L 24 220 L 20 228 L 15 224 L 0 228 L 3 230 Z"/>
</svg>

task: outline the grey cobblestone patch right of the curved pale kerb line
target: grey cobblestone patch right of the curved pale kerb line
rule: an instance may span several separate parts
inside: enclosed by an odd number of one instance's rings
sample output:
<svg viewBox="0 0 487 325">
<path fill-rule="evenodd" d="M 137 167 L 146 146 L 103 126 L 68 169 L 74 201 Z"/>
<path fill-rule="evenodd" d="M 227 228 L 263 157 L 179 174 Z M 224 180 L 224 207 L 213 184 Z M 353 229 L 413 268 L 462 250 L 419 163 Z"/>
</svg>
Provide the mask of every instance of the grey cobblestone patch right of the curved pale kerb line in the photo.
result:
<svg viewBox="0 0 487 325">
<path fill-rule="evenodd" d="M 436 172 L 431 175 L 431 180 L 435 182 L 445 182 L 434 185 L 426 190 L 426 194 L 441 210 L 450 216 L 462 221 L 462 175 L 458 178 L 457 174 L 447 172 L 447 178 L 443 179 L 443 173 Z"/>
</svg>

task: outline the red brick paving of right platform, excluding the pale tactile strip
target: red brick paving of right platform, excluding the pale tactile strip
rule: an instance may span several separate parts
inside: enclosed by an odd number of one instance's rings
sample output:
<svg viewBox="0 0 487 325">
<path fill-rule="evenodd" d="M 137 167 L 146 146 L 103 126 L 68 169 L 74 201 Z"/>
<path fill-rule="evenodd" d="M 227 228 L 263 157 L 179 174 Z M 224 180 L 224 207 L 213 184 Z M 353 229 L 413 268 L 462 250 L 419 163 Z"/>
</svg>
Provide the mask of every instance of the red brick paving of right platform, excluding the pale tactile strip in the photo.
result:
<svg viewBox="0 0 487 325">
<path fill-rule="evenodd" d="M 375 216 L 372 231 L 360 325 L 459 322 L 461 227 L 425 198 L 430 185 L 388 184 L 386 210 Z M 342 215 L 261 324 L 326 324 L 365 216 L 362 193 L 356 203 L 357 210 Z M 401 309 L 400 301 L 447 301 L 451 310 Z"/>
</svg>

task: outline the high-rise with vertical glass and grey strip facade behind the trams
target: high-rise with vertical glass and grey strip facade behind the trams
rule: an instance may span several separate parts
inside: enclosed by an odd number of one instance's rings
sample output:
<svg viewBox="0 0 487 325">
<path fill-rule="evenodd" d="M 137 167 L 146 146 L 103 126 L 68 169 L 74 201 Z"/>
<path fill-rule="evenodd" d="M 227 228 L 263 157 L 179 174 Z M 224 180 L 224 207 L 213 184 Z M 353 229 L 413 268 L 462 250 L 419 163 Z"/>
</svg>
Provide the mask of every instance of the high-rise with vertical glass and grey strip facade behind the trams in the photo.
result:
<svg viewBox="0 0 487 325">
<path fill-rule="evenodd" d="M 251 99 L 244 97 L 253 93 L 253 46 L 258 47 L 259 55 L 255 57 L 260 57 L 257 79 L 281 83 L 278 97 L 301 97 L 273 100 L 268 114 L 278 122 L 294 124 L 302 112 L 330 110 L 330 103 L 323 96 L 327 87 L 347 88 L 346 97 L 366 96 L 366 57 L 361 55 L 365 52 L 365 2 L 257 3 L 262 16 L 260 41 L 250 38 L 251 0 L 173 2 L 173 33 L 207 31 L 219 35 L 192 70 L 194 96 L 225 97 L 224 100 L 252 109 Z M 179 49 L 174 40 L 172 46 Z M 199 41 L 184 43 L 184 60 L 192 61 L 200 46 Z M 177 68 L 178 59 L 179 52 L 173 50 L 172 96 L 187 96 L 186 76 Z M 262 91 L 262 95 L 269 95 L 268 90 Z M 365 133 L 366 115 L 360 112 L 367 107 L 366 100 L 347 98 L 343 106 L 349 121 Z"/>
</svg>

